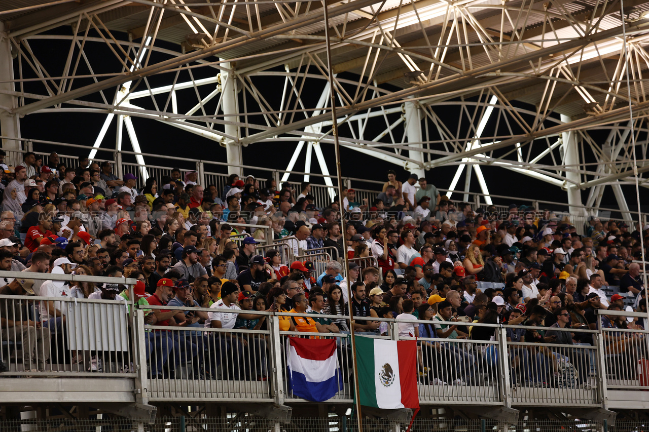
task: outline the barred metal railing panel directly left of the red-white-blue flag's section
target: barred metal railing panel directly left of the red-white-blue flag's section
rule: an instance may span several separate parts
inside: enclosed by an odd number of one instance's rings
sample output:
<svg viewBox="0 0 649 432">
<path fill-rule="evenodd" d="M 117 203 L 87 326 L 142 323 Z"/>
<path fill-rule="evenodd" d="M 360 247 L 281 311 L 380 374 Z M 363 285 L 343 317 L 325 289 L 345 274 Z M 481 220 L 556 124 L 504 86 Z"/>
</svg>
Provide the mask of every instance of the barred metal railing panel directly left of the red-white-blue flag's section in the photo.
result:
<svg viewBox="0 0 649 432">
<path fill-rule="evenodd" d="M 273 402 L 269 331 L 177 326 L 147 330 L 153 330 L 146 335 L 152 401 Z"/>
</svg>

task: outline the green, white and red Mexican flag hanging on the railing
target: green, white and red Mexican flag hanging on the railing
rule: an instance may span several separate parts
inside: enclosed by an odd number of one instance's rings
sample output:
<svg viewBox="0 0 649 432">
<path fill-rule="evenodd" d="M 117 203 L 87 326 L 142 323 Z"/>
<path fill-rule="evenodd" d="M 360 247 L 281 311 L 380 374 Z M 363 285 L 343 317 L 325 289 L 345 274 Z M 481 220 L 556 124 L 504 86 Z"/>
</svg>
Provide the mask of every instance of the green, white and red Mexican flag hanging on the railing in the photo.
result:
<svg viewBox="0 0 649 432">
<path fill-rule="evenodd" d="M 419 408 L 417 341 L 356 336 L 361 405 L 385 409 Z"/>
</svg>

